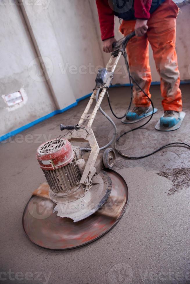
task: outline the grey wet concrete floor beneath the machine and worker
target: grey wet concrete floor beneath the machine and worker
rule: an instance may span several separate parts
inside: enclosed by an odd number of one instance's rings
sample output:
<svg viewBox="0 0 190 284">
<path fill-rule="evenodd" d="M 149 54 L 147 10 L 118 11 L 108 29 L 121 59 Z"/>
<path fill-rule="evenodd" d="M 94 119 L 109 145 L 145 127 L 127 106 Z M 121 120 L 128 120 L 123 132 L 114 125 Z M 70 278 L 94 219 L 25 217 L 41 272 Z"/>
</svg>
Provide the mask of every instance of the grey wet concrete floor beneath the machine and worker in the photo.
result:
<svg viewBox="0 0 190 284">
<path fill-rule="evenodd" d="M 154 129 L 162 106 L 159 86 L 151 89 L 159 111 L 146 127 L 122 140 L 121 149 L 131 155 L 147 154 L 169 141 L 189 142 L 189 85 L 181 86 L 185 120 L 179 130 L 169 133 Z M 111 89 L 110 99 L 115 112 L 123 114 L 129 88 Z M 78 249 L 51 251 L 27 239 L 22 213 L 33 190 L 44 181 L 35 151 L 42 142 L 61 134 L 60 123 L 77 123 L 86 104 L 87 99 L 0 145 L 0 283 L 190 283 L 187 148 L 167 148 L 141 160 L 117 156 L 114 170 L 128 184 L 128 207 L 119 223 L 97 241 Z M 112 116 L 106 98 L 102 108 Z M 114 121 L 119 132 L 128 128 Z M 101 113 L 93 129 L 100 146 L 108 142 L 111 126 Z"/>
</svg>

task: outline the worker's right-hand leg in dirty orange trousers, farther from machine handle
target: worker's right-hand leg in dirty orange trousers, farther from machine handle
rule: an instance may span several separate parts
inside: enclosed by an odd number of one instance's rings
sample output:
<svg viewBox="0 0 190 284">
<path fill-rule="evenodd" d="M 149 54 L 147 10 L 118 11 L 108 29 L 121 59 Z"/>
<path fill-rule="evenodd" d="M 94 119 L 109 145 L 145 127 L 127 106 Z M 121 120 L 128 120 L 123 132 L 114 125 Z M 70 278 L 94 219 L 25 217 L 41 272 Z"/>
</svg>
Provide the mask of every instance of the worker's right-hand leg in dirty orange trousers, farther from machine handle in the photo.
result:
<svg viewBox="0 0 190 284">
<path fill-rule="evenodd" d="M 175 51 L 178 6 L 171 0 L 166 0 L 163 4 L 151 15 L 147 36 L 161 77 L 164 111 L 180 112 L 182 110 L 180 72 Z"/>
</svg>

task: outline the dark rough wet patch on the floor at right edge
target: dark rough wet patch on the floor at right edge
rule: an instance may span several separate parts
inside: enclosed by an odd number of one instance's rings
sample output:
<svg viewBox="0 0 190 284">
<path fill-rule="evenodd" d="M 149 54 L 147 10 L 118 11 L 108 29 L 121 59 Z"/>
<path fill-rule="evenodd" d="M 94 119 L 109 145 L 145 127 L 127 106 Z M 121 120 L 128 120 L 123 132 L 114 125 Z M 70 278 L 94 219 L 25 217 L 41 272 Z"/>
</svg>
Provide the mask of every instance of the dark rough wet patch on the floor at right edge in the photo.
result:
<svg viewBox="0 0 190 284">
<path fill-rule="evenodd" d="M 175 168 L 168 172 L 159 172 L 159 176 L 164 176 L 173 182 L 172 188 L 169 190 L 168 195 L 172 195 L 182 189 L 190 187 L 189 168 Z"/>
</svg>

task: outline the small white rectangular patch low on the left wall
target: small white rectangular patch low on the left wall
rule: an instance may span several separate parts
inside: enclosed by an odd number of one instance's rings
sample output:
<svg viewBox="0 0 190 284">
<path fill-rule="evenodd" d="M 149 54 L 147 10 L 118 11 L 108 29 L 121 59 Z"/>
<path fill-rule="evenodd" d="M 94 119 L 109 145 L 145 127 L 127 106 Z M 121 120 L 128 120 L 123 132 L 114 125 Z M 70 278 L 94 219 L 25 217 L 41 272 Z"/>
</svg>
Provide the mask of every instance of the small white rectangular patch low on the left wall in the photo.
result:
<svg viewBox="0 0 190 284">
<path fill-rule="evenodd" d="M 16 110 L 17 108 L 21 108 L 26 104 L 28 97 L 24 90 L 24 88 L 20 88 L 19 91 L 13 92 L 11 94 L 2 95 L 1 96 L 8 106 L 6 109 L 8 111 Z"/>
</svg>

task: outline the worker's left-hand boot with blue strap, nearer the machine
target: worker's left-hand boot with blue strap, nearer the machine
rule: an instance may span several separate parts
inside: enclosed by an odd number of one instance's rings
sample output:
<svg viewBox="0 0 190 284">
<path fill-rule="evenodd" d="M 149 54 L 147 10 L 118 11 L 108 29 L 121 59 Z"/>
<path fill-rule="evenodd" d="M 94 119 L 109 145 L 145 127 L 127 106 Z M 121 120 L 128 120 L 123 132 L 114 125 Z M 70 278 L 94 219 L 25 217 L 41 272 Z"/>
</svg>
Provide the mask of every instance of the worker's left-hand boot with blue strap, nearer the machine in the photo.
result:
<svg viewBox="0 0 190 284">
<path fill-rule="evenodd" d="M 142 119 L 148 115 L 151 115 L 153 112 L 152 105 L 148 107 L 134 107 L 131 112 L 128 112 L 126 115 L 126 119 L 128 120 L 139 120 Z"/>
</svg>

